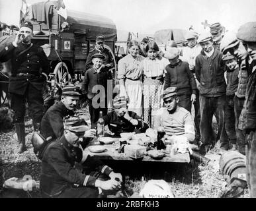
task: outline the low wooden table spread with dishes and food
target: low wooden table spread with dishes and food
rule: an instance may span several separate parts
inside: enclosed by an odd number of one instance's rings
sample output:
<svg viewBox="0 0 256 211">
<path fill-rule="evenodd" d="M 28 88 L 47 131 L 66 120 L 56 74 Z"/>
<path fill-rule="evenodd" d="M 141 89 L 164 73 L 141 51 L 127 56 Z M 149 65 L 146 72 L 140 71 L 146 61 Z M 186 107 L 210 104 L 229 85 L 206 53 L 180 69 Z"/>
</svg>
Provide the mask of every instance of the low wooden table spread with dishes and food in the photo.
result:
<svg viewBox="0 0 256 211">
<path fill-rule="evenodd" d="M 161 160 L 155 160 L 150 156 L 144 156 L 143 158 L 134 159 L 126 156 L 124 153 L 118 153 L 117 148 L 120 147 L 119 138 L 114 138 L 115 142 L 113 144 L 104 144 L 107 148 L 105 152 L 93 153 L 90 152 L 88 148 L 85 150 L 89 153 L 90 156 L 95 156 L 100 160 L 129 160 L 129 161 L 142 161 L 142 162 L 170 162 L 170 163 L 187 163 L 191 162 L 189 152 L 185 154 L 175 154 L 174 156 L 165 156 Z M 91 143 L 93 145 L 93 142 Z"/>
</svg>

